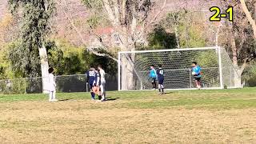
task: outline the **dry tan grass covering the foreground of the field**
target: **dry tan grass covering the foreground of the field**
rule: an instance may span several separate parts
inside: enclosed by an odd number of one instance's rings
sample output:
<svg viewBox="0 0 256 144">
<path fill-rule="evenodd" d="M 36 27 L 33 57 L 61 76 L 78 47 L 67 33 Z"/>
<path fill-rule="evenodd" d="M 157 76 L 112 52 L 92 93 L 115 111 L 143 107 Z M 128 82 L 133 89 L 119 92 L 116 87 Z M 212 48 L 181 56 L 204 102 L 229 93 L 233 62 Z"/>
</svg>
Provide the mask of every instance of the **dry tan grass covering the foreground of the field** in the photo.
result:
<svg viewBox="0 0 256 144">
<path fill-rule="evenodd" d="M 118 109 L 115 102 L 0 106 L 6 143 L 253 143 L 256 110 Z M 90 109 L 91 108 L 91 109 Z"/>
</svg>

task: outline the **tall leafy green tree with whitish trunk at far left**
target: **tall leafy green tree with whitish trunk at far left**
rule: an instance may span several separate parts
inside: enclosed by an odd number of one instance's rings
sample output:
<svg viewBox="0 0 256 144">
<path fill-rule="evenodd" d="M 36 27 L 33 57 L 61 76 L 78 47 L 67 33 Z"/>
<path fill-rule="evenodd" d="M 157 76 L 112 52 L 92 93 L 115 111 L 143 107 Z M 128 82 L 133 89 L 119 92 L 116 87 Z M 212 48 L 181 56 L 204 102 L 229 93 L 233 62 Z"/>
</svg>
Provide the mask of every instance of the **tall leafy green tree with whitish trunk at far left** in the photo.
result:
<svg viewBox="0 0 256 144">
<path fill-rule="evenodd" d="M 46 90 L 49 66 L 45 42 L 46 36 L 50 34 L 49 24 L 55 10 L 54 0 L 9 0 L 9 5 L 12 14 L 22 12 L 21 43 L 13 49 L 15 51 L 10 58 L 14 58 L 14 62 L 24 62 L 16 65 L 16 69 L 26 71 L 26 76 L 42 74 L 42 86 Z"/>
</svg>

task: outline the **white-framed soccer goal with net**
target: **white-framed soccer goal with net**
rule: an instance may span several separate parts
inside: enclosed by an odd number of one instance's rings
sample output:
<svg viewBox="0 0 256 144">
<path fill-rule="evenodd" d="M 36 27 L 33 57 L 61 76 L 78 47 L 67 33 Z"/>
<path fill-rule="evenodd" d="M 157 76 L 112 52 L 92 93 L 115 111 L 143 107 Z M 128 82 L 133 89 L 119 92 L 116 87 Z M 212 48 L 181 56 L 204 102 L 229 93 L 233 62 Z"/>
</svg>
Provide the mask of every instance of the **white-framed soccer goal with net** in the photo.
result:
<svg viewBox="0 0 256 144">
<path fill-rule="evenodd" d="M 162 64 L 168 90 L 195 89 L 191 62 L 202 67 L 202 89 L 236 88 L 241 82 L 229 55 L 221 47 L 118 53 L 118 90 L 151 90 L 150 66 Z"/>
</svg>

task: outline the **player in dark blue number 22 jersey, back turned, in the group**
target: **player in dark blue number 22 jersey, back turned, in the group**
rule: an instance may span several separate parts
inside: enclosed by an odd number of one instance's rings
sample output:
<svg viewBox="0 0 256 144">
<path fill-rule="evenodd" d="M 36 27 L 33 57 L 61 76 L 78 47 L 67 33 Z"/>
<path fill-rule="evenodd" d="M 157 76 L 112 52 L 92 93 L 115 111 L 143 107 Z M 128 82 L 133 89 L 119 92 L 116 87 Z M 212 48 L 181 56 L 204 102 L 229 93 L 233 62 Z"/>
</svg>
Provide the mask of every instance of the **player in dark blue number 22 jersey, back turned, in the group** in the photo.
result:
<svg viewBox="0 0 256 144">
<path fill-rule="evenodd" d="M 96 72 L 95 72 L 94 66 L 90 66 L 90 70 L 86 72 L 86 75 L 87 75 L 87 82 L 89 83 L 89 86 L 90 86 L 91 99 L 94 100 L 95 94 L 93 92 L 93 88 L 94 88 L 94 82 L 96 78 Z"/>
</svg>

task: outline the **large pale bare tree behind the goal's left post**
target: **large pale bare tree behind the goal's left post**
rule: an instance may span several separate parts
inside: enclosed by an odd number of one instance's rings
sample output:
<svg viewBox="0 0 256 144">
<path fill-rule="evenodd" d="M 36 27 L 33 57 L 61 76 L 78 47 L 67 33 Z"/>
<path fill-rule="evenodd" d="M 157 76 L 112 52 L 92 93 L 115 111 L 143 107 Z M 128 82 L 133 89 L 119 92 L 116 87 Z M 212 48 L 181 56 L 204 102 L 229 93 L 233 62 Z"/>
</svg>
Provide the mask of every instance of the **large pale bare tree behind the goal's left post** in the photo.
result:
<svg viewBox="0 0 256 144">
<path fill-rule="evenodd" d="M 145 38 L 146 32 L 152 27 L 166 6 L 166 0 L 151 2 L 150 0 L 84 0 L 91 13 L 100 13 L 110 22 L 114 32 L 118 35 L 120 49 L 123 51 L 135 50 L 138 40 Z M 162 6 L 157 6 L 161 3 Z M 157 8 L 157 9 L 154 9 Z M 94 29 L 91 26 L 91 32 Z M 100 37 L 97 37 L 102 42 Z M 106 43 L 102 43 L 107 46 Z M 122 58 L 122 89 L 131 89 L 133 86 L 134 55 Z M 136 71 L 135 71 L 136 73 Z M 128 84 L 126 84 L 128 83 Z"/>
</svg>

